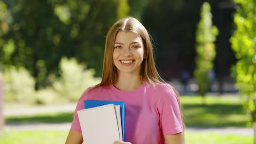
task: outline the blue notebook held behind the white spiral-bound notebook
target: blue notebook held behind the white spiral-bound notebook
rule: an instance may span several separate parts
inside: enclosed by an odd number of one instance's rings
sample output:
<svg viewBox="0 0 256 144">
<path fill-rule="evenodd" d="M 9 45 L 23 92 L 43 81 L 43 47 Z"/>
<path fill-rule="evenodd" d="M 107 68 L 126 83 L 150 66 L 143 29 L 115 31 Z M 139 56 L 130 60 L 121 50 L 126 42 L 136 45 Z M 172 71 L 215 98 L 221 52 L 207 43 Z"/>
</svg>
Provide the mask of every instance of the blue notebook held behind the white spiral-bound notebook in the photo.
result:
<svg viewBox="0 0 256 144">
<path fill-rule="evenodd" d="M 124 101 L 85 100 L 84 104 L 85 104 L 85 109 L 99 107 L 107 104 L 114 104 L 115 106 L 120 105 L 123 141 L 125 141 L 125 102 Z"/>
</svg>

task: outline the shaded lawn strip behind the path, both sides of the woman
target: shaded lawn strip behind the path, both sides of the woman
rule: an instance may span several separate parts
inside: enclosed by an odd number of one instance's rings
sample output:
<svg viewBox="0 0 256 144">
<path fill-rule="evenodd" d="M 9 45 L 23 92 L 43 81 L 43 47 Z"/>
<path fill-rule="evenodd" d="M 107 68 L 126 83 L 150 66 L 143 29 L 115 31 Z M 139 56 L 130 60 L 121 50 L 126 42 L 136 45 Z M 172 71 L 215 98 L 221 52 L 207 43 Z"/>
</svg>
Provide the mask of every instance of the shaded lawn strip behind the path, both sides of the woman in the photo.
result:
<svg viewBox="0 0 256 144">
<path fill-rule="evenodd" d="M 180 101 L 188 127 L 251 126 L 239 96 L 207 96 L 205 106 L 200 96 L 180 96 Z M 72 119 L 73 112 L 5 117 L 7 123 L 66 123 Z"/>
</svg>

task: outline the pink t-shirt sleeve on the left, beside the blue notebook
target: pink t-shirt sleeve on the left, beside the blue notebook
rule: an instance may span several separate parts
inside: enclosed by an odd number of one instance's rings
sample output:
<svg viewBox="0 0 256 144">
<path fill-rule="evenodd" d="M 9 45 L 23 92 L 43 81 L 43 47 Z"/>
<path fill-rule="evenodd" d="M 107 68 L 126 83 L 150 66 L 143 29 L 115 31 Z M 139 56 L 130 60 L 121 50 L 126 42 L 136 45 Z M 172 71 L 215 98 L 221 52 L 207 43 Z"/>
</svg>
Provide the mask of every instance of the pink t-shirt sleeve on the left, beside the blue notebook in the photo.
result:
<svg viewBox="0 0 256 144">
<path fill-rule="evenodd" d="M 89 88 L 82 94 L 81 98 L 77 102 L 77 106 L 76 106 L 75 113 L 74 113 L 74 118 L 73 118 L 73 121 L 71 124 L 71 128 L 80 133 L 82 132 L 82 130 L 81 130 L 80 121 L 79 121 L 79 118 L 77 115 L 77 111 L 84 109 L 84 100 L 86 99 L 85 94 L 88 93 L 88 91 L 89 91 Z"/>
</svg>

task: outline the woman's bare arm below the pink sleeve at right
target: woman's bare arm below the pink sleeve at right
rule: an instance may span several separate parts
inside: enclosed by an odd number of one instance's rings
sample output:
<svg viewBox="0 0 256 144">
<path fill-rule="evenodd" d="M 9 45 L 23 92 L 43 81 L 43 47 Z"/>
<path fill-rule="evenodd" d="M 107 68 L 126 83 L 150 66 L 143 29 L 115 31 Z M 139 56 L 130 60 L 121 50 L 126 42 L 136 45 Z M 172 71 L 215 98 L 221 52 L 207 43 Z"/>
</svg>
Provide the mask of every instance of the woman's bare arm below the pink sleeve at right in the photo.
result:
<svg viewBox="0 0 256 144">
<path fill-rule="evenodd" d="M 164 135 L 164 137 L 165 137 L 165 144 L 185 144 L 183 132 Z"/>
</svg>

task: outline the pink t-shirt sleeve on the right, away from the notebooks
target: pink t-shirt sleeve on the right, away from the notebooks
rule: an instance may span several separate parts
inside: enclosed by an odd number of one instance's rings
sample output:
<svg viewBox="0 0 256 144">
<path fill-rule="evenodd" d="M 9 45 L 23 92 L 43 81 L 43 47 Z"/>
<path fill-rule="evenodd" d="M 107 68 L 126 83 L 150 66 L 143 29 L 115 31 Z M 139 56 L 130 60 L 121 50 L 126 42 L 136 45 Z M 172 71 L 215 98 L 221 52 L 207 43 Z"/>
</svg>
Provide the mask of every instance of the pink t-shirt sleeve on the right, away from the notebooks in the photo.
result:
<svg viewBox="0 0 256 144">
<path fill-rule="evenodd" d="M 164 135 L 183 131 L 179 100 L 171 86 L 162 90 L 158 112 L 160 114 L 160 128 Z"/>
</svg>

